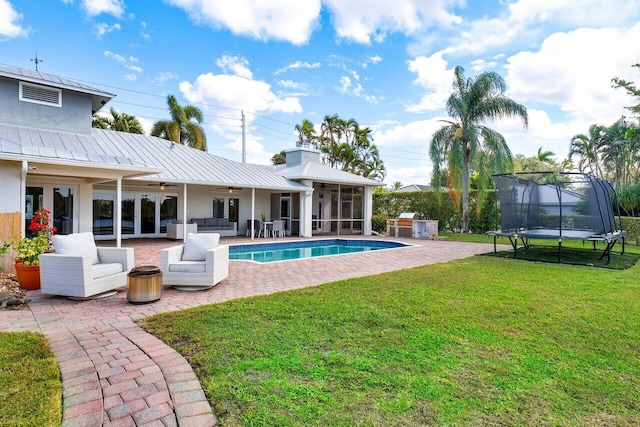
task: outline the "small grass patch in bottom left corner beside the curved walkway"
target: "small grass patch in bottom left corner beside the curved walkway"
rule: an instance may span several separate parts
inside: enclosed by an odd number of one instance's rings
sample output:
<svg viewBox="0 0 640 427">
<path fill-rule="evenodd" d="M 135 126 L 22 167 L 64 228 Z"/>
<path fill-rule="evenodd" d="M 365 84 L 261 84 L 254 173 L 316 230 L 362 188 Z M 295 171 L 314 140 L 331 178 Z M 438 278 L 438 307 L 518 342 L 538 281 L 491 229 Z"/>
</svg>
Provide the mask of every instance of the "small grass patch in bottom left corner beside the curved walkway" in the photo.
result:
<svg viewBox="0 0 640 427">
<path fill-rule="evenodd" d="M 0 425 L 59 426 L 62 381 L 42 334 L 0 332 Z"/>
</svg>

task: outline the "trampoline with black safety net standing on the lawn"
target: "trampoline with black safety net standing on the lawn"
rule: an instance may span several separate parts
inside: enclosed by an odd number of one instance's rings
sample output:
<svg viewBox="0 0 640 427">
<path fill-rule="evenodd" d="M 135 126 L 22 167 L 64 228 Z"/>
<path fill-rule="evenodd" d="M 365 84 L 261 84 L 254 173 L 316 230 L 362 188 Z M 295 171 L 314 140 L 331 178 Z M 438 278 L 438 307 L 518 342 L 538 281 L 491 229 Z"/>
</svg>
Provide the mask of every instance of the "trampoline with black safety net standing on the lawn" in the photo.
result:
<svg viewBox="0 0 640 427">
<path fill-rule="evenodd" d="M 528 248 L 530 239 L 557 239 L 558 262 L 562 241 L 579 239 L 605 249 L 600 259 L 611 261 L 611 250 L 620 241 L 624 253 L 627 232 L 622 230 L 618 197 L 608 181 L 577 172 L 529 172 L 492 175 L 498 197 L 496 237 L 507 236 L 517 256 L 518 239 Z M 614 212 L 615 209 L 615 212 Z M 498 228 L 497 212 L 500 212 Z M 616 225 L 616 216 L 618 224 Z"/>
</svg>

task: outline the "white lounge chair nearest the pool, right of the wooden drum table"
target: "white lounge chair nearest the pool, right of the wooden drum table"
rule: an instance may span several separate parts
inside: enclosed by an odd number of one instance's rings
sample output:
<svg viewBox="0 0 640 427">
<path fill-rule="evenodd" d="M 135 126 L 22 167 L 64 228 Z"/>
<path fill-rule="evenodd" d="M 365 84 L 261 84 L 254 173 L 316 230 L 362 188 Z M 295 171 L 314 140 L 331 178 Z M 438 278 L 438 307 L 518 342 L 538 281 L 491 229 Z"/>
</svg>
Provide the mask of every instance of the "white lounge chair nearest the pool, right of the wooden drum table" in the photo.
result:
<svg viewBox="0 0 640 427">
<path fill-rule="evenodd" d="M 229 245 L 220 234 L 188 233 L 183 245 L 160 251 L 164 285 L 183 291 L 209 289 L 229 276 Z"/>
</svg>

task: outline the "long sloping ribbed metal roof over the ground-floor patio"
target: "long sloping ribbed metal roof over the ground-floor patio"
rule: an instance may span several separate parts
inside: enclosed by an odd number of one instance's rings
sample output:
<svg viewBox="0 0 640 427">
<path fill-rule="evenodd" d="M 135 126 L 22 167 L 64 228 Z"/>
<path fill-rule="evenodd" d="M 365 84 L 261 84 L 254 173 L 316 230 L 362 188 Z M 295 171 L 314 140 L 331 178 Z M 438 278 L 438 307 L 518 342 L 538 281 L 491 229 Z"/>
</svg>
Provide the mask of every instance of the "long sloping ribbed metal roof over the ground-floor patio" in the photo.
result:
<svg viewBox="0 0 640 427">
<path fill-rule="evenodd" d="M 49 158 L 54 163 L 94 161 L 99 167 L 129 164 L 152 175 L 136 177 L 145 182 L 216 185 L 304 191 L 304 184 L 255 165 L 238 163 L 213 154 L 173 144 L 166 139 L 133 133 L 91 129 L 91 135 L 0 125 L 0 138 L 18 141 L 0 145 L 0 158 L 21 154 Z M 18 148 L 19 146 L 20 148 Z M 6 152 L 5 152 L 6 150 Z M 72 165 L 72 163 L 68 163 Z"/>
</svg>

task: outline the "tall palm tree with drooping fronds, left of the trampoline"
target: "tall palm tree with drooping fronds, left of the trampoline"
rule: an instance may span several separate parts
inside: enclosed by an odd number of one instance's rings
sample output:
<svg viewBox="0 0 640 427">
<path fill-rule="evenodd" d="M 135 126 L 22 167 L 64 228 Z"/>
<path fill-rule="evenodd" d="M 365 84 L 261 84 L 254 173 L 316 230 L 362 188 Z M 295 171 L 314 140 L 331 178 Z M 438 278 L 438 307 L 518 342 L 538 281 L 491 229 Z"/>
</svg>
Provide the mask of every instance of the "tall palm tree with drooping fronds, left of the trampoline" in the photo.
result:
<svg viewBox="0 0 640 427">
<path fill-rule="evenodd" d="M 464 69 L 454 69 L 454 92 L 447 100 L 446 109 L 454 121 L 446 124 L 431 138 L 429 155 L 433 162 L 433 180 L 441 181 L 442 168 L 449 169 L 452 186 L 462 187 L 462 230 L 469 230 L 469 175 L 479 174 L 479 196 L 490 179 L 490 173 L 511 169 L 512 155 L 504 137 L 481 124 L 501 117 L 521 118 L 524 127 L 529 124 L 527 109 L 504 95 L 506 85 L 494 72 L 484 72 L 465 79 Z"/>
</svg>

